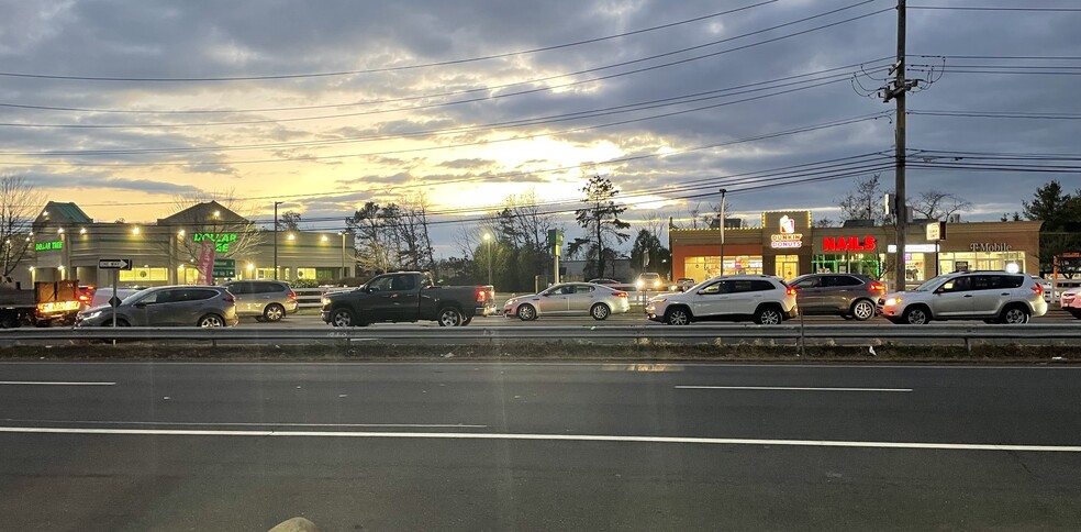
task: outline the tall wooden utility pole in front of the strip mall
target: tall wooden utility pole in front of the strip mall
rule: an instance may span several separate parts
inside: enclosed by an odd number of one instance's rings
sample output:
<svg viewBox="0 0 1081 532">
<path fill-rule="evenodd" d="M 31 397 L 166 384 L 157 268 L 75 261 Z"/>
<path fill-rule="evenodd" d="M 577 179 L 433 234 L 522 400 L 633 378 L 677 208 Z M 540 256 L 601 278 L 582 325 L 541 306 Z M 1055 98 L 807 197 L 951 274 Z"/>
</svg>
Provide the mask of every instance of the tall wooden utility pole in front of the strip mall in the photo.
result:
<svg viewBox="0 0 1081 532">
<path fill-rule="evenodd" d="M 896 121 L 898 126 L 895 131 L 895 169 L 894 177 L 895 184 L 894 188 L 894 209 L 893 215 L 895 218 L 894 225 L 896 228 L 896 259 L 894 263 L 894 282 L 896 286 L 895 290 L 904 290 L 905 280 L 905 259 L 904 259 L 904 248 L 905 248 L 905 231 L 909 226 L 909 208 L 907 200 L 905 198 L 904 190 L 904 157 L 905 157 L 905 115 L 904 115 L 904 97 L 905 93 L 913 89 L 918 80 L 906 80 L 904 78 L 904 43 L 905 43 L 905 0 L 898 0 L 898 60 L 893 64 L 890 74 L 894 74 L 892 86 L 887 86 L 883 95 L 883 101 L 889 102 L 891 99 L 896 102 Z"/>
</svg>

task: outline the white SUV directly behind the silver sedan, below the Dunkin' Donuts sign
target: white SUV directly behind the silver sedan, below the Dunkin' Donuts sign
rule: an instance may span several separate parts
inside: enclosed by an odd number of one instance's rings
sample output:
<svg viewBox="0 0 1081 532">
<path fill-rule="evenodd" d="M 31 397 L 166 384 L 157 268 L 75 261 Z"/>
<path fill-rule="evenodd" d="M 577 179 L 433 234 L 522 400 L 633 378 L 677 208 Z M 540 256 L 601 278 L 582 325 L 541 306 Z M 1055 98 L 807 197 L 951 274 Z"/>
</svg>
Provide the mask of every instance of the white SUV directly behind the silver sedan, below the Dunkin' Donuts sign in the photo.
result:
<svg viewBox="0 0 1081 532">
<path fill-rule="evenodd" d="M 777 325 L 799 315 L 795 288 L 777 277 L 716 277 L 682 293 L 662 293 L 646 303 L 646 317 L 669 325 L 699 320 L 747 320 Z"/>
</svg>

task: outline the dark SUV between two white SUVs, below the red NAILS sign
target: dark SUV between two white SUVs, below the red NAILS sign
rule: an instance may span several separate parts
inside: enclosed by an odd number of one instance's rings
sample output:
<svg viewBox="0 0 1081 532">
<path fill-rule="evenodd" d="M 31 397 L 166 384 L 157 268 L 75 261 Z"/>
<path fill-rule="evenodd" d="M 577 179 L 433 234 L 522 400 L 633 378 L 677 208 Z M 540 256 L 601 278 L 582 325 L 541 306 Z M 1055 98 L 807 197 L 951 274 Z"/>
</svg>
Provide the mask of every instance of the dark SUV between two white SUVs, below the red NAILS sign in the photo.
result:
<svg viewBox="0 0 1081 532">
<path fill-rule="evenodd" d="M 792 279 L 800 312 L 807 315 L 843 315 L 859 321 L 874 317 L 874 306 L 885 285 L 861 274 L 810 274 Z"/>
</svg>

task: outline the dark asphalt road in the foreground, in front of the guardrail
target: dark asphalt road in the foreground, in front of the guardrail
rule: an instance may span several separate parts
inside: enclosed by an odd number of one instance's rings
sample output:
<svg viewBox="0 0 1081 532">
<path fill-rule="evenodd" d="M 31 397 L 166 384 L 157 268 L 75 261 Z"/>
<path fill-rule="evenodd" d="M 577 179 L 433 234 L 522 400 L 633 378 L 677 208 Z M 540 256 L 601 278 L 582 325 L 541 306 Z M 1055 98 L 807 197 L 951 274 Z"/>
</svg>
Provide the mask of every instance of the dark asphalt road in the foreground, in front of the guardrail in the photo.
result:
<svg viewBox="0 0 1081 532">
<path fill-rule="evenodd" d="M 1081 368 L 0 364 L 5 530 L 1077 530 Z"/>
</svg>

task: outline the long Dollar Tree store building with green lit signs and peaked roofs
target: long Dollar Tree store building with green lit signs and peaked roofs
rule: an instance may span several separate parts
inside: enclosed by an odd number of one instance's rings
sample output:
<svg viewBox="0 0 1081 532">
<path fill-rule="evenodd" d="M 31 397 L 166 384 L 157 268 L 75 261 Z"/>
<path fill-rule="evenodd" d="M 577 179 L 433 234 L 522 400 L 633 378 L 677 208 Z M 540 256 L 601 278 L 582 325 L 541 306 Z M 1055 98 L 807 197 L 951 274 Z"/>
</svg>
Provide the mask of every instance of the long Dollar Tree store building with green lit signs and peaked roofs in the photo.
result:
<svg viewBox="0 0 1081 532">
<path fill-rule="evenodd" d="M 213 250 L 212 282 L 230 279 L 331 281 L 350 277 L 354 237 L 345 232 L 274 231 L 211 201 L 155 223 L 96 222 L 75 203 L 51 201 L 34 220 L 33 250 L 15 280 L 112 284 L 99 261 L 127 259 L 121 286 L 199 284 L 198 264 Z"/>
</svg>

